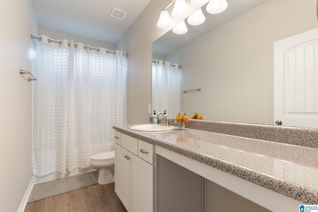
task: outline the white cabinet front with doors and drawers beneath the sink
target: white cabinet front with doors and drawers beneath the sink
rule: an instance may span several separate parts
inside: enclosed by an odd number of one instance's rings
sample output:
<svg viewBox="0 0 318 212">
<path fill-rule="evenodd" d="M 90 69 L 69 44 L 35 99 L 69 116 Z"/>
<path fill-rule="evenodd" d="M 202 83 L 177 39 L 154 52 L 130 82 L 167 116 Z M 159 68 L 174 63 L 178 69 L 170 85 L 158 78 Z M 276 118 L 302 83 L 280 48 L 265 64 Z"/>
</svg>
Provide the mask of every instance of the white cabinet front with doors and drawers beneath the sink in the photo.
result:
<svg viewBox="0 0 318 212">
<path fill-rule="evenodd" d="M 154 145 L 115 131 L 115 192 L 128 212 L 154 211 Z"/>
</svg>

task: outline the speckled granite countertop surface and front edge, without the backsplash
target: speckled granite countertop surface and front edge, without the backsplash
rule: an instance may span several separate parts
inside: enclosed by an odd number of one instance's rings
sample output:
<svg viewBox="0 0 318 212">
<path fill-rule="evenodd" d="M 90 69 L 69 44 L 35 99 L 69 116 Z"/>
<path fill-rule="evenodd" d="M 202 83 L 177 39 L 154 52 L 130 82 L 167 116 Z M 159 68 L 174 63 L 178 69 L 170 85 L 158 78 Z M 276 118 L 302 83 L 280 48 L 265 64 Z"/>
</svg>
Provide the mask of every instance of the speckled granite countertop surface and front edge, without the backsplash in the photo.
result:
<svg viewBox="0 0 318 212">
<path fill-rule="evenodd" d="M 304 204 L 318 204 L 318 148 L 193 129 L 113 129 L 235 175 Z"/>
</svg>

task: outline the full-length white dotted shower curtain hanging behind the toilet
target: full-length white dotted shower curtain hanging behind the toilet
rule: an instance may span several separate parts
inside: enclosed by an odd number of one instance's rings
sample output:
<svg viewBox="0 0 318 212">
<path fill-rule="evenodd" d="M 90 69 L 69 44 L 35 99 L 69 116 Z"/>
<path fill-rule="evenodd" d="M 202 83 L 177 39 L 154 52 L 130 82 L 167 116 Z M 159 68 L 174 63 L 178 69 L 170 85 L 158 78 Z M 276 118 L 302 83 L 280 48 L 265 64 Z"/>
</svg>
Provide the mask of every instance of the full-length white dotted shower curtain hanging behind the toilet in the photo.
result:
<svg viewBox="0 0 318 212">
<path fill-rule="evenodd" d="M 65 174 L 89 167 L 92 154 L 113 150 L 112 126 L 126 125 L 126 57 L 41 37 L 34 66 L 33 175 Z"/>
</svg>

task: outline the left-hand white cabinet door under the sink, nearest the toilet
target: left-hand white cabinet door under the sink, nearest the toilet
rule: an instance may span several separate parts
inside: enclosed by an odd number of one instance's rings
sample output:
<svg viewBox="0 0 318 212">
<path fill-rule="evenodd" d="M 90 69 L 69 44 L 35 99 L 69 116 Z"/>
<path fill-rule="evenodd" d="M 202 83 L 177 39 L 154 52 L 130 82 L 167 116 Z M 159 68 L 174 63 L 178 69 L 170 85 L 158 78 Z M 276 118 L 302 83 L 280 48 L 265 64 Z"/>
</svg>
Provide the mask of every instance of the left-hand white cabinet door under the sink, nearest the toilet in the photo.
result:
<svg viewBox="0 0 318 212">
<path fill-rule="evenodd" d="M 128 150 L 115 143 L 115 193 L 129 212 L 130 165 Z"/>
</svg>

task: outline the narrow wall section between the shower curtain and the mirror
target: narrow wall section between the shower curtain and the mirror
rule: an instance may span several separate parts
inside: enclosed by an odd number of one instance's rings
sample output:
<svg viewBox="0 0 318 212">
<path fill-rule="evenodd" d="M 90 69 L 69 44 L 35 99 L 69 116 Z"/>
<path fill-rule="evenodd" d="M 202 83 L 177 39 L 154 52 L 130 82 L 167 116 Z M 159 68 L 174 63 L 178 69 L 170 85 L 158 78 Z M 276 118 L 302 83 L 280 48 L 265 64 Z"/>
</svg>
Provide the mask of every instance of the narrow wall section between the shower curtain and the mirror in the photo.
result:
<svg viewBox="0 0 318 212">
<path fill-rule="evenodd" d="M 128 53 L 127 123 L 149 122 L 152 104 L 152 42 L 165 30 L 157 27 L 159 13 L 170 0 L 152 0 L 116 45 Z M 154 15 L 158 14 L 158 15 Z"/>
</svg>

